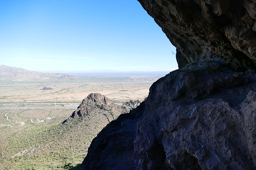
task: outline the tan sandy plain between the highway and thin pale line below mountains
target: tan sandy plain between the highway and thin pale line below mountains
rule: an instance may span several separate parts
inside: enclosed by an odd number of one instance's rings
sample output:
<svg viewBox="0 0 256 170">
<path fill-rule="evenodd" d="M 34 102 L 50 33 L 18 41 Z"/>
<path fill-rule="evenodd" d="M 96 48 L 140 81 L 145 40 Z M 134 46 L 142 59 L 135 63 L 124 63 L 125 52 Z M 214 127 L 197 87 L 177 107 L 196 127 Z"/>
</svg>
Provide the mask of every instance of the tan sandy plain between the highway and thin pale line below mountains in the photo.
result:
<svg viewBox="0 0 256 170">
<path fill-rule="evenodd" d="M 0 103 L 81 102 L 90 93 L 101 93 L 115 102 L 144 100 L 155 80 L 110 79 L 106 82 L 0 85 Z M 51 87 L 52 90 L 42 90 Z"/>
</svg>

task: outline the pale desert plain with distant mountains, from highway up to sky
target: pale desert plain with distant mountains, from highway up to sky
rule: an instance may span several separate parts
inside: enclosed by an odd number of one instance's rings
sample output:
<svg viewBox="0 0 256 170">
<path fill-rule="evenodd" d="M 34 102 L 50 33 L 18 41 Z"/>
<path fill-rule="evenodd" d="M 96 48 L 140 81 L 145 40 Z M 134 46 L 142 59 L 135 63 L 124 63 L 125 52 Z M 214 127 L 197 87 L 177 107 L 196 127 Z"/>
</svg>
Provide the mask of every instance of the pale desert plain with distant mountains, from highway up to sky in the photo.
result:
<svg viewBox="0 0 256 170">
<path fill-rule="evenodd" d="M 40 73 L 0 66 L 0 103 L 81 102 L 91 92 L 115 102 L 143 100 L 149 87 L 168 72 Z M 42 90 L 44 87 L 52 90 Z"/>
</svg>

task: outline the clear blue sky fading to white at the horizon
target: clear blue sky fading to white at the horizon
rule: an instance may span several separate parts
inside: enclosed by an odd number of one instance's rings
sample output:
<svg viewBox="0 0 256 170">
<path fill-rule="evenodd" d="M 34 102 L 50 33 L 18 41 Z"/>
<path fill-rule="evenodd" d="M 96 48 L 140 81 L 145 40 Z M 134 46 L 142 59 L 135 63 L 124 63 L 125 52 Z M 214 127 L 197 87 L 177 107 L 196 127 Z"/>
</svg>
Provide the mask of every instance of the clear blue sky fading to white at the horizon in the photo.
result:
<svg viewBox="0 0 256 170">
<path fill-rule="evenodd" d="M 1 0 L 0 65 L 41 72 L 178 69 L 137 0 Z"/>
</svg>

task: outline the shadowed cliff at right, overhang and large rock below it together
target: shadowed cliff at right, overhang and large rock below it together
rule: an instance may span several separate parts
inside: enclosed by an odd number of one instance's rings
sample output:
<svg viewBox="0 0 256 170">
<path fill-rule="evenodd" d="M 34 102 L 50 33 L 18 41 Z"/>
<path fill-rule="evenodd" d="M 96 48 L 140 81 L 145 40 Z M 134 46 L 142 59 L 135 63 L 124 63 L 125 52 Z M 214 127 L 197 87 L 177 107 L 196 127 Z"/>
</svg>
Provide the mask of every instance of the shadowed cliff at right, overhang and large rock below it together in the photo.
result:
<svg viewBox="0 0 256 170">
<path fill-rule="evenodd" d="M 150 87 L 134 169 L 256 169 L 256 3 L 138 1 L 177 47 L 179 70 Z"/>
</svg>

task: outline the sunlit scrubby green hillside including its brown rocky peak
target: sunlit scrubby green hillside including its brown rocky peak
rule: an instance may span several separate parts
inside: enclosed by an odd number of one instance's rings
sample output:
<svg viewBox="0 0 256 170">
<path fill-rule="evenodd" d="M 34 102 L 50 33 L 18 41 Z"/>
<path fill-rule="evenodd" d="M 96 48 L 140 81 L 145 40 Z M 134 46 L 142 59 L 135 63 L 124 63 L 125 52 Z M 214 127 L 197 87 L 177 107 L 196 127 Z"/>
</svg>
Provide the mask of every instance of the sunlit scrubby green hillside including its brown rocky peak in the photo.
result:
<svg viewBox="0 0 256 170">
<path fill-rule="evenodd" d="M 70 166 L 80 164 L 92 139 L 109 123 L 103 114 L 105 111 L 96 107 L 100 103 L 112 108 L 114 118 L 127 112 L 107 97 L 92 93 L 67 120 L 60 119 L 47 126 L 30 126 L 13 133 L 1 155 L 7 162 L 0 165 L 3 169 L 45 170 L 62 169 L 68 163 Z M 109 120 L 112 121 L 110 117 Z"/>
</svg>

